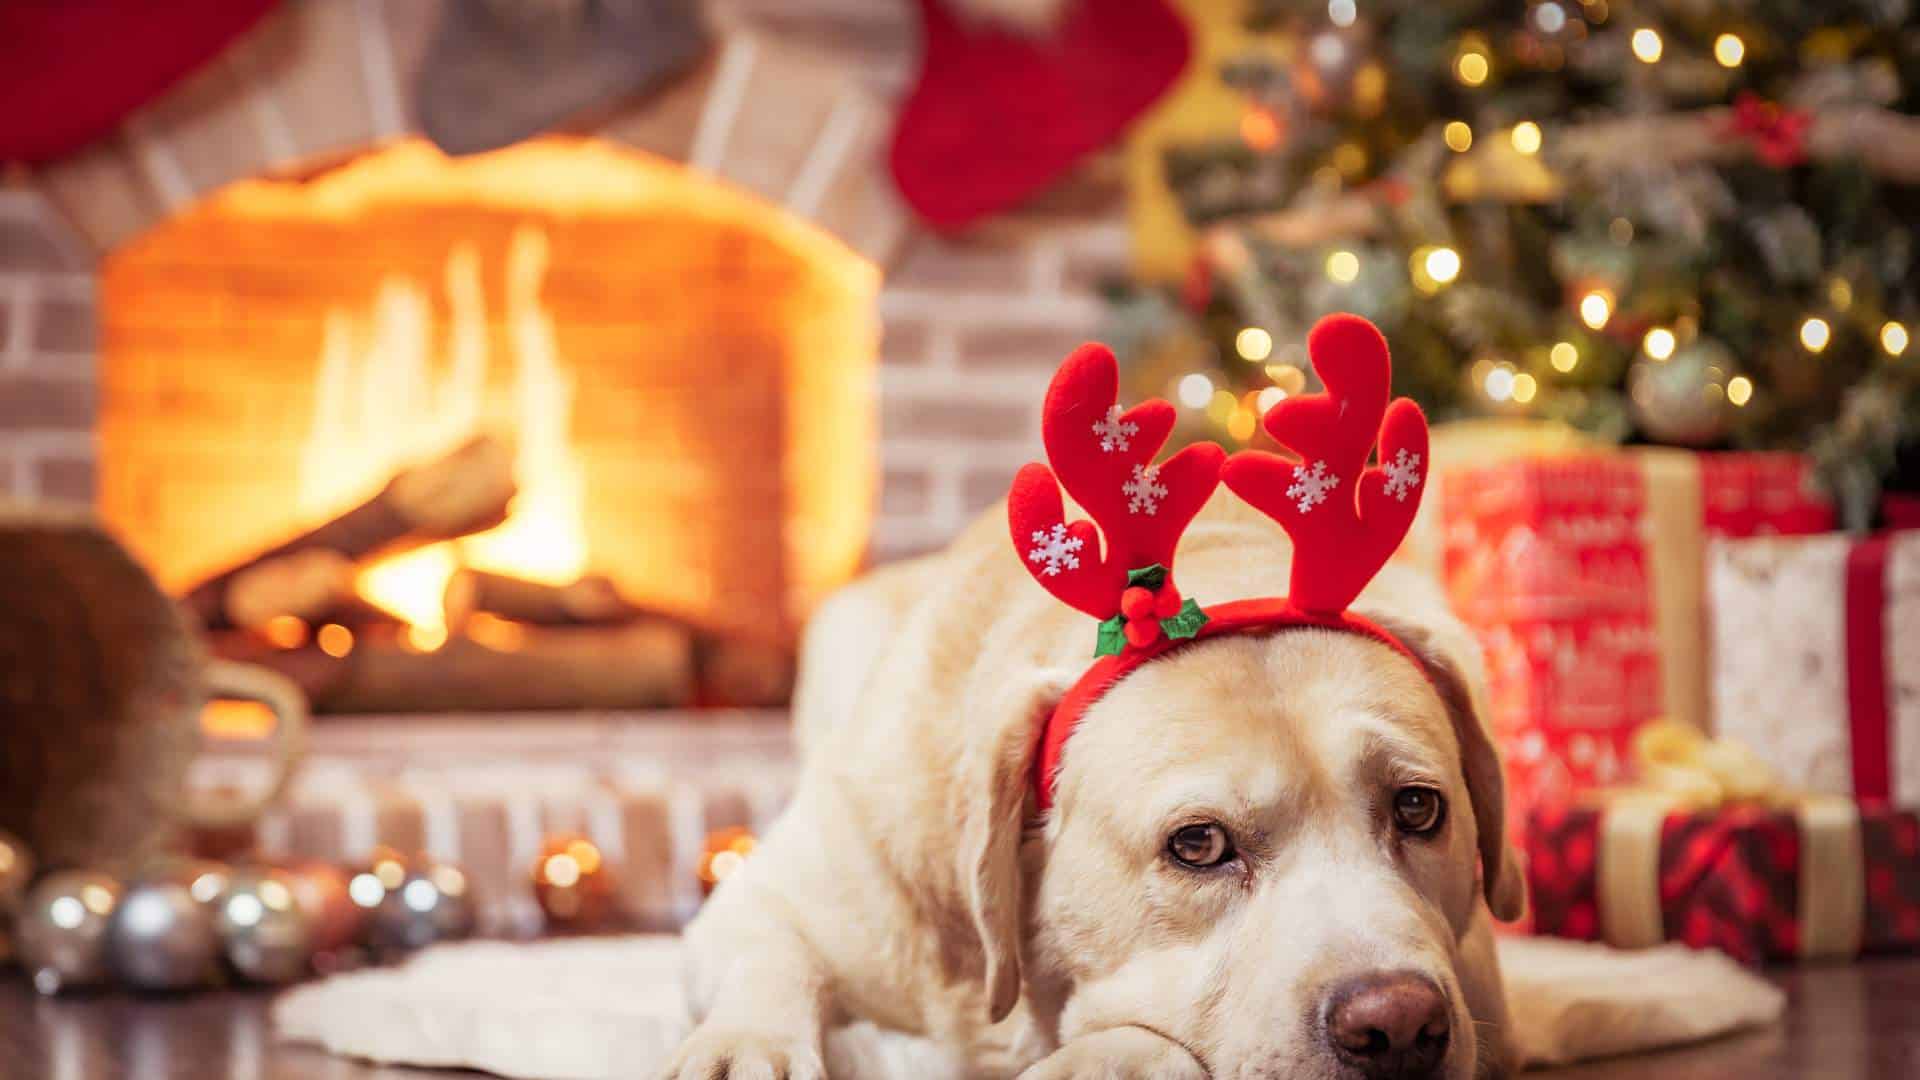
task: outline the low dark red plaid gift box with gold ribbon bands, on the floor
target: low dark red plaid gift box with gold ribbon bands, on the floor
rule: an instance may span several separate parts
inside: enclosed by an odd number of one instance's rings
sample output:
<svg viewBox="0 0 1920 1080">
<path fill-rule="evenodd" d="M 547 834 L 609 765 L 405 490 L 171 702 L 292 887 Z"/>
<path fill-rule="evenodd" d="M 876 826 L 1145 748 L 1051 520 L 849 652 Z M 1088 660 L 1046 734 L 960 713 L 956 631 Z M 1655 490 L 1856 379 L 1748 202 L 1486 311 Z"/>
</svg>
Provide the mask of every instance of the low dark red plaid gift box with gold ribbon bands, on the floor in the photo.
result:
<svg viewBox="0 0 1920 1080">
<path fill-rule="evenodd" d="M 1759 963 L 1920 949 L 1920 817 L 1812 798 L 1789 809 L 1536 809 L 1538 934 L 1682 942 Z"/>
</svg>

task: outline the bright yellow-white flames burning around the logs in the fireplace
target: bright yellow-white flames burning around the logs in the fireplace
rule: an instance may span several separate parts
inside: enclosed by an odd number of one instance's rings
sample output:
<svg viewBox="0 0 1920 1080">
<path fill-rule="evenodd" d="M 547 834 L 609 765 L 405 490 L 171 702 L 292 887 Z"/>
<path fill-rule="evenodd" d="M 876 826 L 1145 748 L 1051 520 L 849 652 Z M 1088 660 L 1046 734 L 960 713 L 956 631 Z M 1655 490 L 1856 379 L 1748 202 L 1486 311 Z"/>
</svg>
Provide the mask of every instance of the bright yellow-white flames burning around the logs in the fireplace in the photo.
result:
<svg viewBox="0 0 1920 1080">
<path fill-rule="evenodd" d="M 374 563 L 355 582 L 361 596 L 409 625 L 409 640 L 420 650 L 447 640 L 444 594 L 459 567 L 564 584 L 588 565 L 582 471 L 568 438 L 574 382 L 540 300 L 547 234 L 515 231 L 505 269 L 513 352 L 505 398 L 488 394 L 486 290 L 472 246 L 447 256 L 444 359 L 432 304 L 415 281 L 388 277 L 365 317 L 326 313 L 313 425 L 301 448 L 301 513 L 336 513 L 376 492 L 397 469 L 482 430 L 511 434 L 516 444 L 518 496 L 507 521 Z"/>
</svg>

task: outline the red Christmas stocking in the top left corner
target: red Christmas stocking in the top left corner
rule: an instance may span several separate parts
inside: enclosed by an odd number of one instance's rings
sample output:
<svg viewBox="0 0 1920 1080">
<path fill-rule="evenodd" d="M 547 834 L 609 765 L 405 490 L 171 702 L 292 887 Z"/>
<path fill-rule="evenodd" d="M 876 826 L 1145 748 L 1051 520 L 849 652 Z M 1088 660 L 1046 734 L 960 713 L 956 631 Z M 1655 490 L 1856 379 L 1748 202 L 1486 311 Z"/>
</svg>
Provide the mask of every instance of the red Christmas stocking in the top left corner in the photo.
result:
<svg viewBox="0 0 1920 1080">
<path fill-rule="evenodd" d="M 0 161 L 46 161 L 106 135 L 273 4 L 0 2 Z"/>
</svg>

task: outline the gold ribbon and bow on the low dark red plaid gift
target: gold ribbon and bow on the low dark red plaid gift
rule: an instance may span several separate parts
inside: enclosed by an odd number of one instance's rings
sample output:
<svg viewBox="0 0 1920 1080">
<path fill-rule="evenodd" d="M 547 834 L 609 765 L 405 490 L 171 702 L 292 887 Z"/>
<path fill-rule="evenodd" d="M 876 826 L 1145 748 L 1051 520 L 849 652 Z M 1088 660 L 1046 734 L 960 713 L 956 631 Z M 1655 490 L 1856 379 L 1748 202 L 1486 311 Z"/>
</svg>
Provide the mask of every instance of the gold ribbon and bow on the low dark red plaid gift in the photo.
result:
<svg viewBox="0 0 1920 1080">
<path fill-rule="evenodd" d="M 1661 826 L 1672 813 L 1734 805 L 1789 809 L 1799 822 L 1801 959 L 1860 951 L 1866 857 L 1853 799 L 1793 792 L 1749 748 L 1659 721 L 1634 734 L 1640 784 L 1601 794 L 1599 922 L 1609 945 L 1644 949 L 1667 934 L 1661 917 Z"/>
</svg>

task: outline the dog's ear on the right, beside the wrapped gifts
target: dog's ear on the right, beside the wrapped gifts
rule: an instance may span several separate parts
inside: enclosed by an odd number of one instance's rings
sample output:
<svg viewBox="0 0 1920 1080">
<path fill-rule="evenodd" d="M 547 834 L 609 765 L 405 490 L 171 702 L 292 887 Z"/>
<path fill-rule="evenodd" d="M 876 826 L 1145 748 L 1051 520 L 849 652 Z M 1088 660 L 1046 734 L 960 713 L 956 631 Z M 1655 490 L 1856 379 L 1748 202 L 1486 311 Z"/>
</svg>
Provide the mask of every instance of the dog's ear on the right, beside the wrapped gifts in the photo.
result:
<svg viewBox="0 0 1920 1080">
<path fill-rule="evenodd" d="M 1526 915 L 1526 880 L 1519 855 L 1507 842 L 1507 774 L 1486 728 L 1486 678 L 1480 646 L 1473 632 L 1452 623 L 1444 628 L 1419 626 L 1394 617 L 1373 617 L 1421 659 L 1459 740 L 1461 771 L 1473 799 L 1473 821 L 1480 842 L 1480 874 L 1486 907 L 1494 919 L 1513 922 Z"/>
</svg>

